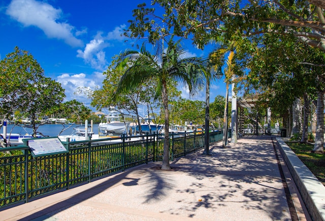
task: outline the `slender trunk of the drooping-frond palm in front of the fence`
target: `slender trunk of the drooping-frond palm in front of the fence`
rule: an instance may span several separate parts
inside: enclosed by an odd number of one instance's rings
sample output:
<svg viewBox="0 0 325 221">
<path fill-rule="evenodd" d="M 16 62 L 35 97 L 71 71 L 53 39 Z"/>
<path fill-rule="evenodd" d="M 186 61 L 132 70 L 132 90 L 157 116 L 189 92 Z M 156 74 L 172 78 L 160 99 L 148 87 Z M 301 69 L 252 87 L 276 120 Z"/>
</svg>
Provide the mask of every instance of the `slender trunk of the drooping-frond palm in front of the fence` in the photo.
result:
<svg viewBox="0 0 325 221">
<path fill-rule="evenodd" d="M 164 110 L 165 110 L 165 137 L 164 137 L 164 154 L 163 154 L 163 165 L 161 169 L 171 169 L 169 164 L 169 111 L 168 111 L 168 96 L 167 96 L 167 85 L 163 83 L 163 92 L 161 93 Z"/>
</svg>

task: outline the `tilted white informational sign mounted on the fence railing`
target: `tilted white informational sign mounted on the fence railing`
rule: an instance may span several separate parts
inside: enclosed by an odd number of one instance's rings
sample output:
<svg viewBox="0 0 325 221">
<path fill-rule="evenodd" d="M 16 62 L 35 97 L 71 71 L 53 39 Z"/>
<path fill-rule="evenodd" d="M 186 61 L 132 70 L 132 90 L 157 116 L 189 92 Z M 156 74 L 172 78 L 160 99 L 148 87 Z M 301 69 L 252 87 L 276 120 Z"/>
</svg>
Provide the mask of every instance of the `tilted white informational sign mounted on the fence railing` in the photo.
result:
<svg viewBox="0 0 325 221">
<path fill-rule="evenodd" d="M 33 157 L 69 152 L 57 137 L 31 139 L 28 140 L 28 146 Z"/>
</svg>

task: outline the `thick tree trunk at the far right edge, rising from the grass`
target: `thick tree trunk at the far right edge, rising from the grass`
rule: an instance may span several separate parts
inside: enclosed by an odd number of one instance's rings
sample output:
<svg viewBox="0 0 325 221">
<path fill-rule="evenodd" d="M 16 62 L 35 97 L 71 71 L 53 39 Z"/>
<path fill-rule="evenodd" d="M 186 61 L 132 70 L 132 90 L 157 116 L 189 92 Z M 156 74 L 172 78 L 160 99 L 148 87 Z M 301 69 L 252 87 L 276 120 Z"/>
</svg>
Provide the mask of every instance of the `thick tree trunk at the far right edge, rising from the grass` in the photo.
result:
<svg viewBox="0 0 325 221">
<path fill-rule="evenodd" d="M 324 92 L 317 92 L 317 123 L 316 123 L 316 136 L 313 151 L 323 151 L 324 145 Z"/>
</svg>

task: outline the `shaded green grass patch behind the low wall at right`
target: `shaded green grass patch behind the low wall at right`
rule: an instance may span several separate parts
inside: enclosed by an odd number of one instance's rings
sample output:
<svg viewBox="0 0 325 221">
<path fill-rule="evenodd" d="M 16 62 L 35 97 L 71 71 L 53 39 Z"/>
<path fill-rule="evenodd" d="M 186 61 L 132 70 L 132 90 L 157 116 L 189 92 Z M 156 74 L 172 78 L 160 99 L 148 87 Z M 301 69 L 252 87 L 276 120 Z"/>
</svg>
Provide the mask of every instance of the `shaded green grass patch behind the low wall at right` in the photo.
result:
<svg viewBox="0 0 325 221">
<path fill-rule="evenodd" d="M 313 145 L 299 142 L 286 142 L 300 160 L 309 168 L 316 178 L 325 186 L 325 155 L 323 152 L 312 152 Z"/>
</svg>

